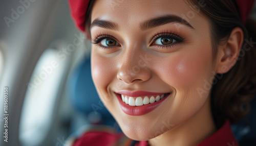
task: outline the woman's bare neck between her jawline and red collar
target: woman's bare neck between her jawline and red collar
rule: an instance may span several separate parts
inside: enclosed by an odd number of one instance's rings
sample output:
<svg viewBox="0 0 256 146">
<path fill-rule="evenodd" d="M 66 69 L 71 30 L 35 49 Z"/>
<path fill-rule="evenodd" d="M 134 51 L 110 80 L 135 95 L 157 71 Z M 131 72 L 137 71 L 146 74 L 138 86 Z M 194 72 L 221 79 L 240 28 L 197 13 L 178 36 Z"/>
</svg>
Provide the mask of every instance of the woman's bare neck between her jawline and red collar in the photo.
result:
<svg viewBox="0 0 256 146">
<path fill-rule="evenodd" d="M 217 130 L 211 115 L 210 98 L 204 106 L 192 117 L 178 127 L 167 131 L 148 142 L 152 146 L 158 145 L 196 145 Z"/>
</svg>

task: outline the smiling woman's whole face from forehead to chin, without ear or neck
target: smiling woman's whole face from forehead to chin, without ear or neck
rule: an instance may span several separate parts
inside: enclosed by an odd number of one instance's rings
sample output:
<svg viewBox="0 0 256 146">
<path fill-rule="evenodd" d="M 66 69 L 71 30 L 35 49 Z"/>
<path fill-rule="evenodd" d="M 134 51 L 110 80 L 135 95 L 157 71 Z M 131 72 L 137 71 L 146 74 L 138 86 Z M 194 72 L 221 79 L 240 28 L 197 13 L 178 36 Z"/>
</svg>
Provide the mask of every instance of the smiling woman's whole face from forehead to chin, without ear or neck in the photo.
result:
<svg viewBox="0 0 256 146">
<path fill-rule="evenodd" d="M 209 23 L 198 8 L 178 0 L 95 1 L 92 77 L 128 137 L 169 131 L 209 98 L 216 66 Z"/>
</svg>

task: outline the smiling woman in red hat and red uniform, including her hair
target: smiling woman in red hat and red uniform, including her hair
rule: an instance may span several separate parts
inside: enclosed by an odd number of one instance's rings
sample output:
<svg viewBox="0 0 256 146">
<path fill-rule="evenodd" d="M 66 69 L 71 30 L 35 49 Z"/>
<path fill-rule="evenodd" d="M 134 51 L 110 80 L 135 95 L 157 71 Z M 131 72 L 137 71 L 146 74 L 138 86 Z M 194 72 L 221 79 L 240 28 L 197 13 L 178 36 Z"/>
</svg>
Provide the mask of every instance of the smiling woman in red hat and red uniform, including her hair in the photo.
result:
<svg viewBox="0 0 256 146">
<path fill-rule="evenodd" d="M 253 1 L 241 2 L 70 1 L 100 99 L 137 140 L 97 130 L 73 145 L 238 145 L 230 122 L 256 87 Z"/>
</svg>

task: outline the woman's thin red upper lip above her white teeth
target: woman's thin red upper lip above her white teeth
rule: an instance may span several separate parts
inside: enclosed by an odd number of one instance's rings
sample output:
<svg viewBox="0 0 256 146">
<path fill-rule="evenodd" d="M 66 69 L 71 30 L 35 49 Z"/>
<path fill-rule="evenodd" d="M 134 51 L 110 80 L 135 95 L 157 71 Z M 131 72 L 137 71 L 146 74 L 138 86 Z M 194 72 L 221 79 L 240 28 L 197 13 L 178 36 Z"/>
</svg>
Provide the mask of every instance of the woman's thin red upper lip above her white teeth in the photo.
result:
<svg viewBox="0 0 256 146">
<path fill-rule="evenodd" d="M 128 95 L 132 97 L 138 96 L 147 96 L 147 95 L 157 95 L 157 94 L 165 94 L 169 92 L 149 92 L 149 91 L 129 91 L 129 90 L 120 90 L 116 92 L 118 94 Z"/>
</svg>

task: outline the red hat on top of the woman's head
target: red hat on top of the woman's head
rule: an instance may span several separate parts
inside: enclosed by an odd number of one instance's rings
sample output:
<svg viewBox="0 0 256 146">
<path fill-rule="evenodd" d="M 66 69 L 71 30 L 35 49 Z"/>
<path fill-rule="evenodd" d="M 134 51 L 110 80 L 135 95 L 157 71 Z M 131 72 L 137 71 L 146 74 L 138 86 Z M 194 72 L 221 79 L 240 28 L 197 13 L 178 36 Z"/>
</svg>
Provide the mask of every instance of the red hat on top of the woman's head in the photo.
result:
<svg viewBox="0 0 256 146">
<path fill-rule="evenodd" d="M 69 0 L 71 16 L 76 26 L 82 32 L 85 32 L 86 11 L 90 0 Z M 250 14 L 254 0 L 236 0 L 242 22 L 245 23 L 247 16 Z"/>
</svg>

